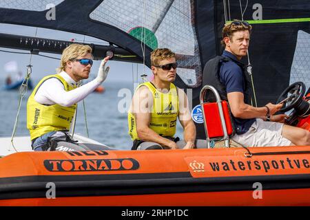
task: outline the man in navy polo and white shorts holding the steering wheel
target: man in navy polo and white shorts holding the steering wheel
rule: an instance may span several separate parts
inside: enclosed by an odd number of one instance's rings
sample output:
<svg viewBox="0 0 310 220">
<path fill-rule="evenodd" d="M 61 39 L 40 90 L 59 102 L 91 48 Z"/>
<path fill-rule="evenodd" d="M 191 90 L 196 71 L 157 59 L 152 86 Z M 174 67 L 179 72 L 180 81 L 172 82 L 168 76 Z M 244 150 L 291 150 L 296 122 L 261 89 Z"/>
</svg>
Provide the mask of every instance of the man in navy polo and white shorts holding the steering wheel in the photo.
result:
<svg viewBox="0 0 310 220">
<path fill-rule="evenodd" d="M 264 107 L 251 106 L 251 81 L 240 63 L 247 55 L 251 25 L 233 21 L 223 28 L 224 60 L 220 65 L 220 93 L 228 100 L 236 135 L 233 140 L 245 146 L 309 145 L 310 132 L 283 124 L 287 115 L 273 115 L 282 104 L 268 103 Z"/>
</svg>

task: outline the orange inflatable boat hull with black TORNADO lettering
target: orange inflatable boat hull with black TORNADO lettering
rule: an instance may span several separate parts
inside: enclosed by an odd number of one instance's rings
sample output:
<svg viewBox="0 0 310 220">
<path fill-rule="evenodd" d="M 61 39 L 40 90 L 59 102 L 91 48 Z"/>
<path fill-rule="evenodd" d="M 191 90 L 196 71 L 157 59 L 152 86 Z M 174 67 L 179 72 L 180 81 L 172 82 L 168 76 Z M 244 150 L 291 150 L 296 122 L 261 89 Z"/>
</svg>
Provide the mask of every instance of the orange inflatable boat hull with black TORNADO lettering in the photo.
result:
<svg viewBox="0 0 310 220">
<path fill-rule="evenodd" d="M 14 153 L 0 206 L 310 205 L 310 146 L 248 149 Z"/>
</svg>

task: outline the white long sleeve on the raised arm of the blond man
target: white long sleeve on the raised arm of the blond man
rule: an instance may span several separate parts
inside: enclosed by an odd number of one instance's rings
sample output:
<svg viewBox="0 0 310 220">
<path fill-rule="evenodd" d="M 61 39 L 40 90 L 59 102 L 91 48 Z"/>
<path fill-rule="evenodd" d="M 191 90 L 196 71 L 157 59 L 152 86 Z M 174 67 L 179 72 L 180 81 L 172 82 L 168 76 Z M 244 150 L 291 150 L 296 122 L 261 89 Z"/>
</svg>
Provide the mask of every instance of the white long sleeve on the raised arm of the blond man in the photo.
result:
<svg viewBox="0 0 310 220">
<path fill-rule="evenodd" d="M 50 78 L 41 84 L 34 96 L 34 100 L 40 104 L 59 104 L 63 107 L 70 107 L 72 104 L 83 100 L 99 85 L 100 83 L 97 80 L 92 80 L 79 88 L 65 91 L 65 87 L 60 80 Z"/>
</svg>

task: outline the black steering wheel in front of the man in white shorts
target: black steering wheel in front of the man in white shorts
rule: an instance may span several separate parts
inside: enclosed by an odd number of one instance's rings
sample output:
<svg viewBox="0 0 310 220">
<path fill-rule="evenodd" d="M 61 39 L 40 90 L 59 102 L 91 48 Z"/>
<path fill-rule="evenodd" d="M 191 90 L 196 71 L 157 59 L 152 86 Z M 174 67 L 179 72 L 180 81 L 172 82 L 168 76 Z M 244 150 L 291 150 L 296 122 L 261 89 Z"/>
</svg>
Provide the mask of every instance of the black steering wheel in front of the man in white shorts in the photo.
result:
<svg viewBox="0 0 310 220">
<path fill-rule="evenodd" d="M 278 104 L 284 100 L 283 107 L 280 109 L 280 111 L 285 112 L 293 109 L 294 107 L 297 107 L 298 104 L 300 104 L 302 101 L 302 97 L 304 96 L 305 91 L 306 86 L 302 82 L 296 82 L 287 87 L 287 89 L 285 89 L 285 91 L 280 94 L 276 102 L 276 104 Z"/>
</svg>

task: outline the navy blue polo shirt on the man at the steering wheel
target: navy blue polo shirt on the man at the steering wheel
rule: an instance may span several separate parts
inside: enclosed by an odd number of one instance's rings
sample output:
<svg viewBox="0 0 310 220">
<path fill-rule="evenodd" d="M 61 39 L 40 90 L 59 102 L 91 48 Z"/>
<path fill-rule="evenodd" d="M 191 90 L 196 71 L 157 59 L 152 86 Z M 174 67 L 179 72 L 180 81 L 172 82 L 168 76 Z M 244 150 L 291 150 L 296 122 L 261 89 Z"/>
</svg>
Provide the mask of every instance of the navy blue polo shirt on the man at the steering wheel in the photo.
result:
<svg viewBox="0 0 310 220">
<path fill-rule="evenodd" d="M 237 63 L 240 62 L 236 56 L 234 56 L 234 54 L 231 54 L 227 50 L 224 50 L 222 56 L 231 58 Z M 227 94 L 234 91 L 239 91 L 242 92 L 242 94 L 245 94 L 245 78 L 243 76 L 241 67 L 238 66 L 234 61 L 223 62 L 220 66 L 220 83 L 225 85 Z M 249 131 L 251 125 L 256 121 L 255 118 L 235 118 L 234 115 L 232 115 L 232 117 L 236 127 L 236 133 L 239 135 Z"/>
</svg>

